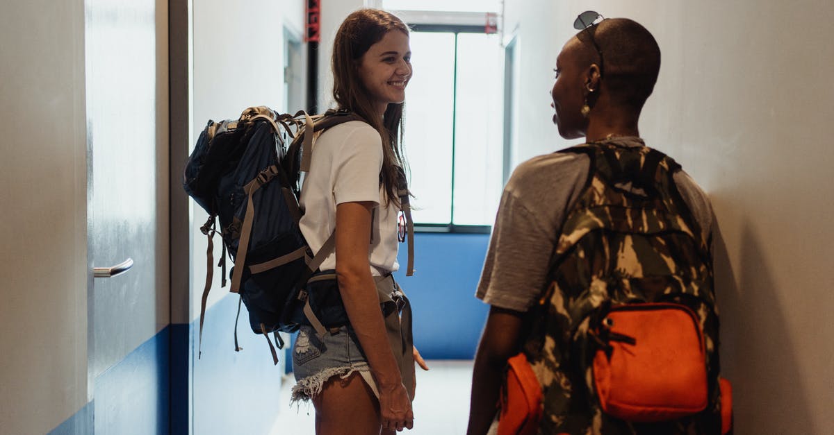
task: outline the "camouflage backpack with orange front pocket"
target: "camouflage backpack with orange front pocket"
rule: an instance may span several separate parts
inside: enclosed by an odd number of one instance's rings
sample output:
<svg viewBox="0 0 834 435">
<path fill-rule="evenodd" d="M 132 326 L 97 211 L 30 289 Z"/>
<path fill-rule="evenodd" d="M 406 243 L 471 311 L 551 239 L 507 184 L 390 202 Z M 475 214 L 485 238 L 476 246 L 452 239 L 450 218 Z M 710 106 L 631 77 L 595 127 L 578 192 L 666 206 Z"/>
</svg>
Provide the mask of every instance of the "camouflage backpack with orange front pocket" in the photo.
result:
<svg viewBox="0 0 834 435">
<path fill-rule="evenodd" d="M 561 153 L 588 155 L 590 173 L 561 228 L 550 285 L 535 308 L 543 320 L 525 343 L 543 383 L 539 432 L 719 433 L 711 241 L 672 179 L 680 165 L 651 148 L 613 143 Z M 655 342 L 661 347 L 649 348 Z M 623 373 L 644 378 L 620 383 Z M 656 391 L 654 383 L 675 376 L 678 390 Z M 695 408 L 667 413 L 682 405 L 666 407 L 666 398 L 693 388 L 700 396 Z M 625 405 L 615 403 L 620 399 Z M 650 406 L 641 408 L 646 400 Z"/>
</svg>

